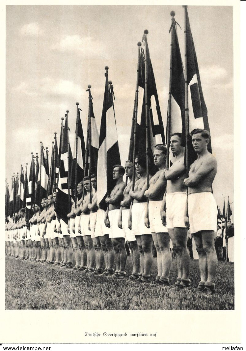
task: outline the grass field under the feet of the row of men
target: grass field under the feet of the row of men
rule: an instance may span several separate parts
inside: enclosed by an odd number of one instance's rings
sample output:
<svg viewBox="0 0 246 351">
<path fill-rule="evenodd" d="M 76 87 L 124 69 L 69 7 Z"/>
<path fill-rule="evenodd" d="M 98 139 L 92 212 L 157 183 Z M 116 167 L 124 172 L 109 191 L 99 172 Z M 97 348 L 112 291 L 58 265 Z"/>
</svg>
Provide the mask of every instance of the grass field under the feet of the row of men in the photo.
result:
<svg viewBox="0 0 246 351">
<path fill-rule="evenodd" d="M 128 276 L 132 269 L 130 260 L 127 257 Z M 156 259 L 152 271 L 157 273 Z M 171 283 L 176 274 L 174 259 Z M 199 278 L 198 261 L 191 261 L 193 287 Z M 233 263 L 219 262 L 215 284 L 216 293 L 206 297 L 6 257 L 6 309 L 10 310 L 233 310 Z"/>
</svg>

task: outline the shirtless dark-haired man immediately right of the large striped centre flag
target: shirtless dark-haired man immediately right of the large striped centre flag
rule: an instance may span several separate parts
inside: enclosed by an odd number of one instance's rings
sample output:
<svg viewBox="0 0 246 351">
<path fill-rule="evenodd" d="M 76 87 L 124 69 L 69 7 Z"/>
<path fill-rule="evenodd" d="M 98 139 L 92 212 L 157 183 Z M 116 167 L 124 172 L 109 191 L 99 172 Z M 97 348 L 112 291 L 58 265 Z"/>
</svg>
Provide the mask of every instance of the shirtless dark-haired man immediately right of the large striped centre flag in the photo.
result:
<svg viewBox="0 0 246 351">
<path fill-rule="evenodd" d="M 125 174 L 124 167 L 121 165 L 113 166 L 113 179 L 115 180 L 115 186 L 111 191 L 110 197 L 105 199 L 108 207 L 108 220 L 110 223 L 109 238 L 112 239 L 112 244 L 115 252 L 115 263 L 116 270 L 114 276 L 126 277 L 126 249 L 125 249 L 125 234 L 122 229 L 118 227 L 118 218 L 120 212 L 120 203 L 123 200 L 123 192 L 125 183 L 123 176 Z"/>
</svg>

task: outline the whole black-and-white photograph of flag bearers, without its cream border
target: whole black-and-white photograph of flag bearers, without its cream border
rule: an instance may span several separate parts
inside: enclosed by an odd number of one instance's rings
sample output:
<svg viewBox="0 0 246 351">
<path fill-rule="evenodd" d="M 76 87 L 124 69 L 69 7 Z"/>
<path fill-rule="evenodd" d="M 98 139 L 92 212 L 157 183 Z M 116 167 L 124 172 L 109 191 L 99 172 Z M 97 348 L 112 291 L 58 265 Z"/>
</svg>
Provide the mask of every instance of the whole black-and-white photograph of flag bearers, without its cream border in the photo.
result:
<svg viewBox="0 0 246 351">
<path fill-rule="evenodd" d="M 6 6 L 6 310 L 234 310 L 233 53 L 233 6 Z"/>
</svg>

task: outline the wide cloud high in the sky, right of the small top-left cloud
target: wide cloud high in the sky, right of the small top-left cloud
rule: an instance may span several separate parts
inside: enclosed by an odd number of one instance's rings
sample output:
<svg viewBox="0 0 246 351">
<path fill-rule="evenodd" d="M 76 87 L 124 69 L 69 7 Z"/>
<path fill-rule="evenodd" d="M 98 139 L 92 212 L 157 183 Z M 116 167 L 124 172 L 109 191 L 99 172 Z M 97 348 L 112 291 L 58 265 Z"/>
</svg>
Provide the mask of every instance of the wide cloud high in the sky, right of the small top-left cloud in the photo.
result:
<svg viewBox="0 0 246 351">
<path fill-rule="evenodd" d="M 102 42 L 92 37 L 80 37 L 80 35 L 66 35 L 59 42 L 52 45 L 53 50 L 66 52 L 78 52 L 83 56 L 99 55 L 108 59 L 102 50 Z"/>
</svg>

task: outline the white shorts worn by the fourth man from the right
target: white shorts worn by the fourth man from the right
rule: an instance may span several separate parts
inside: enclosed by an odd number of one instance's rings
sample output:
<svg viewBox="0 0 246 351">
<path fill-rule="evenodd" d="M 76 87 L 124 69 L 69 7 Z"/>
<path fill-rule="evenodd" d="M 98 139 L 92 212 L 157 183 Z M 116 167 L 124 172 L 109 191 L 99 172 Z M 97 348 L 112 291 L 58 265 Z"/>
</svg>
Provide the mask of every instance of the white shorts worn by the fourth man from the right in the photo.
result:
<svg viewBox="0 0 246 351">
<path fill-rule="evenodd" d="M 147 202 L 134 203 L 132 205 L 132 234 L 144 235 L 151 234 L 151 230 L 144 224 Z"/>
</svg>

